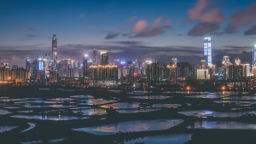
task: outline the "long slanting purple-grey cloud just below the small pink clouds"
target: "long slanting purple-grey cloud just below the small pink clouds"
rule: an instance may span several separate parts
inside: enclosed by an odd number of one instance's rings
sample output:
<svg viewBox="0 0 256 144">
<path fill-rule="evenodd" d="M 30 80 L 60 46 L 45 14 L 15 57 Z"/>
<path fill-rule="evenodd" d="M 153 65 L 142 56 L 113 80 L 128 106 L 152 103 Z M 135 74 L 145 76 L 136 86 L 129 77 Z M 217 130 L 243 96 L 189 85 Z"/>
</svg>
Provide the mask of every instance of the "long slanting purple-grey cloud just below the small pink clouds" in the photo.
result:
<svg viewBox="0 0 256 144">
<path fill-rule="evenodd" d="M 147 32 L 139 32 L 134 36 L 129 36 L 130 38 L 134 37 L 154 37 L 160 34 L 163 34 L 166 32 L 166 29 L 170 29 L 171 26 L 160 26 L 160 27 L 155 27 Z"/>
</svg>

